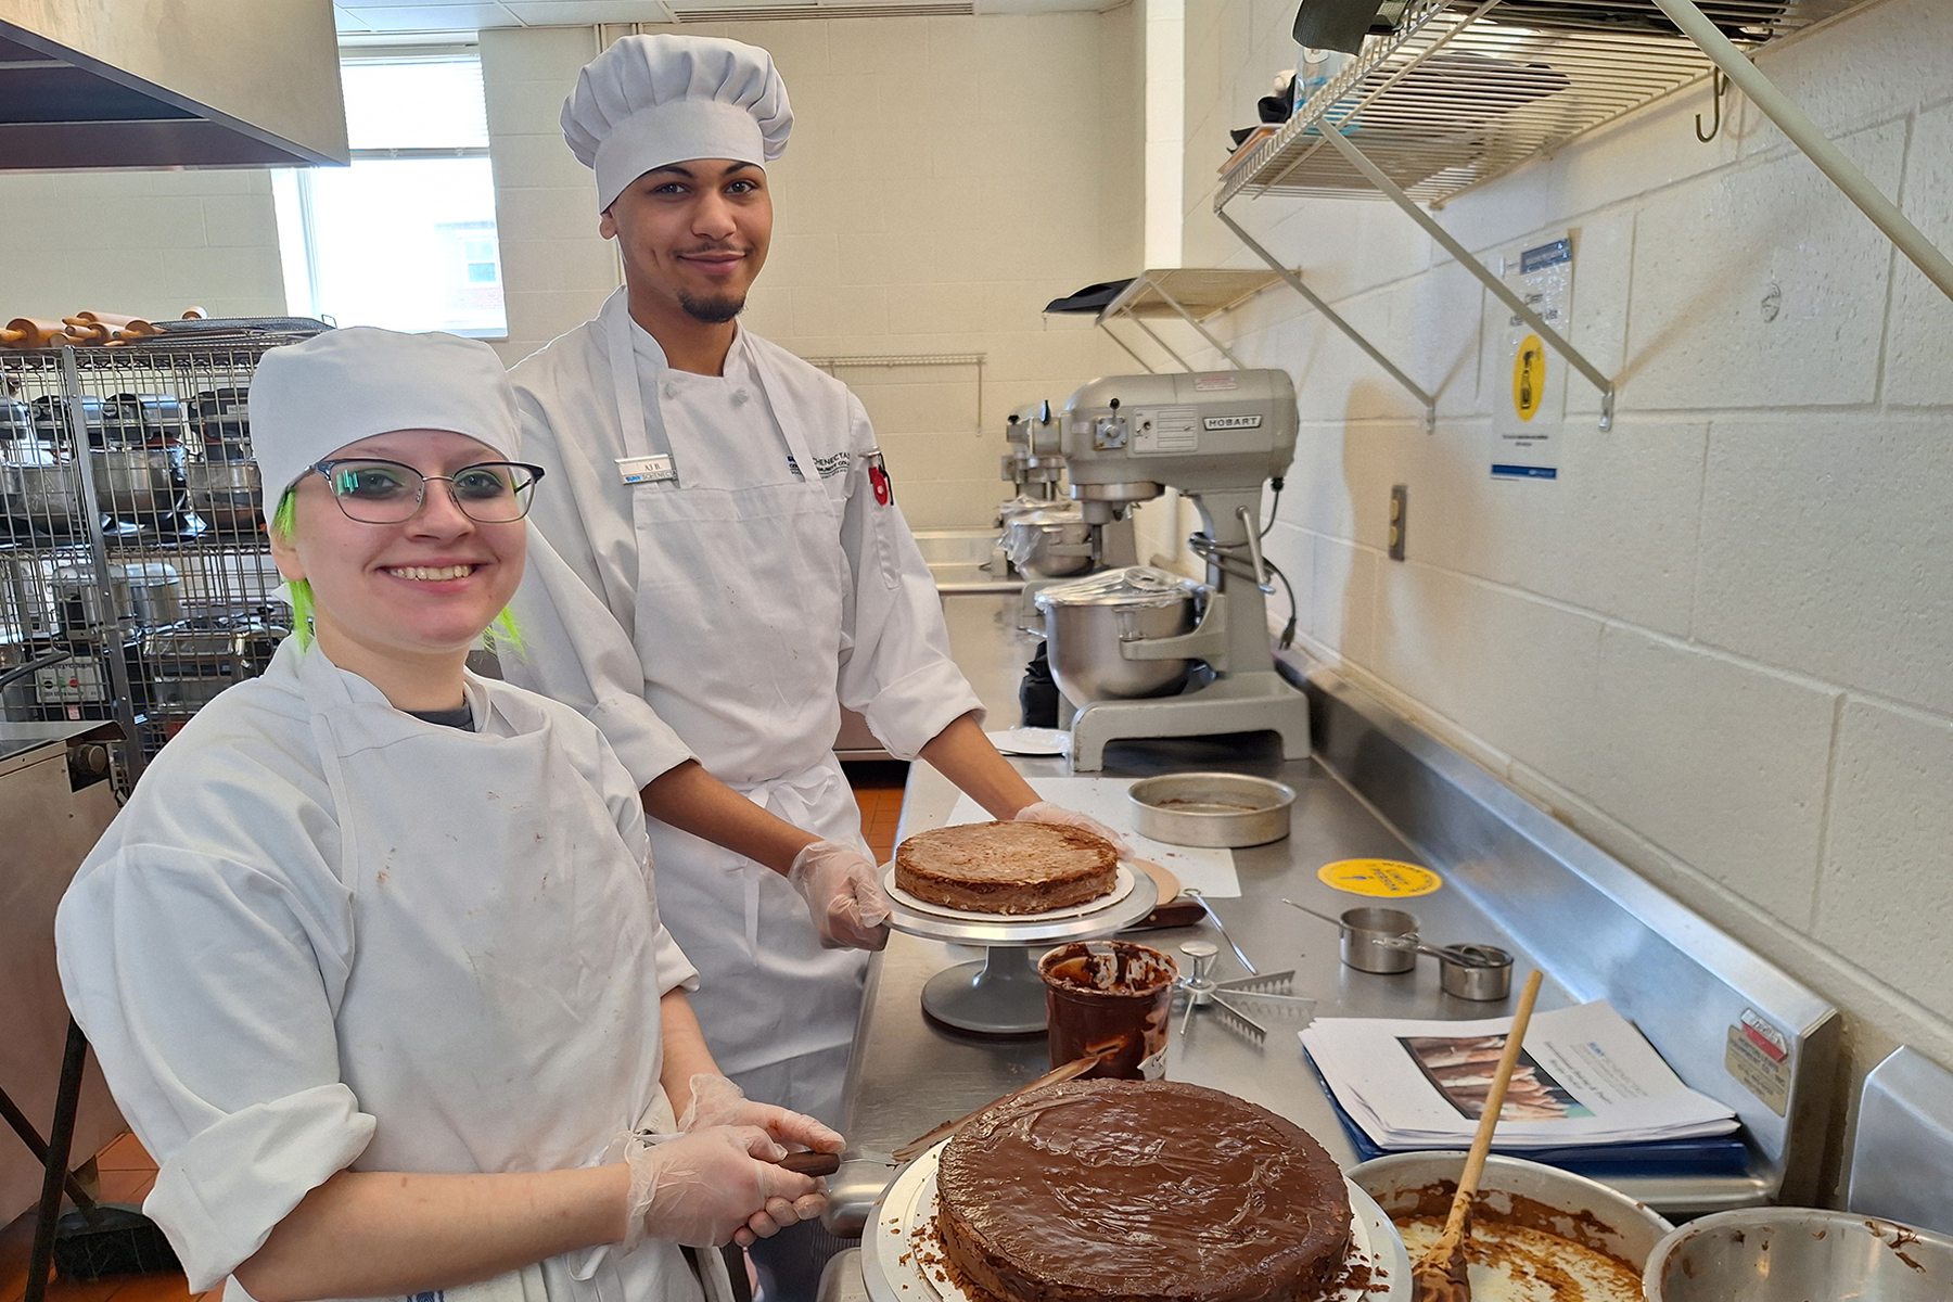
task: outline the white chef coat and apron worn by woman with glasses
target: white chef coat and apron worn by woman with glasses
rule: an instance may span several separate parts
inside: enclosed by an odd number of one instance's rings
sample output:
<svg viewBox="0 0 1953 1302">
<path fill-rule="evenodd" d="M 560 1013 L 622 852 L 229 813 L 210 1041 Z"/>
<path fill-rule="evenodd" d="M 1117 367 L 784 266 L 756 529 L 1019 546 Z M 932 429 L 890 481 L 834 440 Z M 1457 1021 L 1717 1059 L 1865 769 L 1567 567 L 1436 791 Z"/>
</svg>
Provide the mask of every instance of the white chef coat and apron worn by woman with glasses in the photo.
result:
<svg viewBox="0 0 1953 1302">
<path fill-rule="evenodd" d="M 61 902 L 62 988 L 191 1292 L 340 1169 L 566 1169 L 672 1128 L 658 997 L 697 974 L 637 787 L 576 711 L 465 691 L 475 732 L 287 638 L 162 750 Z M 699 1298 L 668 1241 L 502 1279 Z"/>
</svg>

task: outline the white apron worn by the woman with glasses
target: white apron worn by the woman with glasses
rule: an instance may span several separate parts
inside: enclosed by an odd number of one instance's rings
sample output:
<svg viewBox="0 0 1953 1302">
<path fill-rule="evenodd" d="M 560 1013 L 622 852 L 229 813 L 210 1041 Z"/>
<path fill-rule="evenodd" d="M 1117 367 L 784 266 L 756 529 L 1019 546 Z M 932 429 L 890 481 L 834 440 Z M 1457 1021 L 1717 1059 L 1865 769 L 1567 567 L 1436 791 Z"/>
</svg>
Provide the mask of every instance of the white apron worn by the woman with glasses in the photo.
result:
<svg viewBox="0 0 1953 1302">
<path fill-rule="evenodd" d="M 344 1079 L 379 1126 L 353 1169 L 596 1165 L 621 1130 L 676 1128 L 658 1085 L 656 906 L 605 845 L 613 814 L 541 703 L 469 681 L 484 730 L 465 734 L 395 711 L 316 648 L 299 681 L 355 900 L 361 960 L 334 1021 Z M 514 736 L 486 728 L 490 711 Z M 723 1284 L 717 1253 L 701 1257 Z M 701 1284 L 676 1243 L 646 1240 L 447 1292 L 695 1302 Z"/>
</svg>

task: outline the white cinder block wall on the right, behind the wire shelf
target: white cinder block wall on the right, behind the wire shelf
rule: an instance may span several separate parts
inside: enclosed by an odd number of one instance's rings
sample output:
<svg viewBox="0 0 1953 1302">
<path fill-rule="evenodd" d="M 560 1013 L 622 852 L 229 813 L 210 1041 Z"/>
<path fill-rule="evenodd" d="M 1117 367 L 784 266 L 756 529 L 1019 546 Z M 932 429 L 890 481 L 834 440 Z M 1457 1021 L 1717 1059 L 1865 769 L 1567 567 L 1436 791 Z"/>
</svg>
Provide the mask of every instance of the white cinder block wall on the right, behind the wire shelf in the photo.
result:
<svg viewBox="0 0 1953 1302">
<path fill-rule="evenodd" d="M 1215 166 L 1291 14 L 1187 0 L 1187 265 L 1256 265 Z M 1758 62 L 1953 248 L 1953 6 L 1873 4 Z M 1855 1091 L 1894 1040 L 1953 1064 L 1953 303 L 1740 96 L 1699 144 L 1707 103 L 1439 215 L 1494 269 L 1574 232 L 1572 338 L 1621 398 L 1601 433 L 1570 379 L 1558 482 L 1488 478 L 1504 314 L 1385 203 L 1228 211 L 1441 392 L 1435 433 L 1295 295 L 1228 324 L 1301 394 L 1267 550 L 1309 650 L 1844 1007 Z"/>
</svg>

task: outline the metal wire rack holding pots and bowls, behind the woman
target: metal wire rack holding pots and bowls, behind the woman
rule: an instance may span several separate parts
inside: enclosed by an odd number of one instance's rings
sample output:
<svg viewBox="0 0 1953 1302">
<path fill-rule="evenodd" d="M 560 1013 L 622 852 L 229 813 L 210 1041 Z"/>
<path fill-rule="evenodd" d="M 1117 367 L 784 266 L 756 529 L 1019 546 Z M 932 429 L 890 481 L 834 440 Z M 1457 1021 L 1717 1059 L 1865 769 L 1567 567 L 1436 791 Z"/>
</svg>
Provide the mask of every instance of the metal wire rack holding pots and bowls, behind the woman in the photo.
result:
<svg viewBox="0 0 1953 1302">
<path fill-rule="evenodd" d="M 289 631 L 246 394 L 297 338 L 0 351 L 0 709 L 119 720 L 123 789 Z"/>
</svg>

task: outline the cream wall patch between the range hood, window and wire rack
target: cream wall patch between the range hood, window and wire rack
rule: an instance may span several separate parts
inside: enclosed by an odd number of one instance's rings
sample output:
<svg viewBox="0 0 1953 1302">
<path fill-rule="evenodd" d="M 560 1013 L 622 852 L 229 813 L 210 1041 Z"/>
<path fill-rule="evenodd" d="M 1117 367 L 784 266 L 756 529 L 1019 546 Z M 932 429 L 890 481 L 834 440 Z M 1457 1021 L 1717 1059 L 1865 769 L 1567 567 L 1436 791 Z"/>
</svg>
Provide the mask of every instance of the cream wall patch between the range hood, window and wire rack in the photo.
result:
<svg viewBox="0 0 1953 1302">
<path fill-rule="evenodd" d="M 0 320 L 285 314 L 270 172 L 0 172 Z"/>
</svg>

